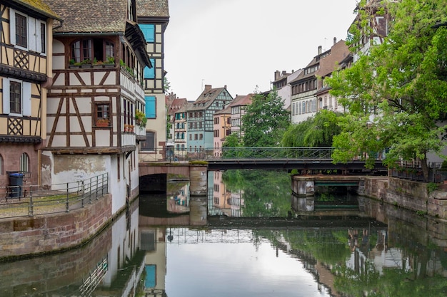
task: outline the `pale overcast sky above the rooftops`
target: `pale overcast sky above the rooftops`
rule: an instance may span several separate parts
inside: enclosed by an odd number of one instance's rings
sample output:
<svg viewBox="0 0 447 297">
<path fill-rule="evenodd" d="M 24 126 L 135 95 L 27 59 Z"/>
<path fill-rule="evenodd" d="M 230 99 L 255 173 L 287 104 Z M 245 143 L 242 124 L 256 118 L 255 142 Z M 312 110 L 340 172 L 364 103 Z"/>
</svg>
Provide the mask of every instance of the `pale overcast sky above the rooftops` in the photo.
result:
<svg viewBox="0 0 447 297">
<path fill-rule="evenodd" d="M 333 38 L 346 40 L 357 0 L 169 0 L 164 68 L 178 98 L 204 85 L 233 96 L 271 88 L 274 72 L 297 71 Z"/>
</svg>

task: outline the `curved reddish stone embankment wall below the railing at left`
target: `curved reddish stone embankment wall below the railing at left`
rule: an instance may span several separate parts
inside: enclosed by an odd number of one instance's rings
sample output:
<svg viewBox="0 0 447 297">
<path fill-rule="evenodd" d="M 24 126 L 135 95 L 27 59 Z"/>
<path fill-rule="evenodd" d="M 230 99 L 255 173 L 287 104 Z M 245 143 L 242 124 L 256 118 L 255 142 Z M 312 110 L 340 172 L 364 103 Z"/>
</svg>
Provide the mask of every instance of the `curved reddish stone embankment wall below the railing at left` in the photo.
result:
<svg viewBox="0 0 447 297">
<path fill-rule="evenodd" d="M 111 200 L 111 194 L 106 194 L 83 209 L 68 213 L 0 219 L 0 261 L 83 244 L 111 222 Z"/>
</svg>

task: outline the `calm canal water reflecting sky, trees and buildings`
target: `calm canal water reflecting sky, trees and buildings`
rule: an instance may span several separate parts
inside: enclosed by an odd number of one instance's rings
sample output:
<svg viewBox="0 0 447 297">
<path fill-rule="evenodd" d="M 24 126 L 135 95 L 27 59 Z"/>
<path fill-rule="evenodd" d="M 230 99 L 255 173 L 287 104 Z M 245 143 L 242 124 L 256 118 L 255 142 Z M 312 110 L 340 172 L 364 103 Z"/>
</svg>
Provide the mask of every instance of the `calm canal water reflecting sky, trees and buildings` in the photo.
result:
<svg viewBox="0 0 447 297">
<path fill-rule="evenodd" d="M 446 222 L 342 189 L 308 215 L 293 199 L 286 172 L 215 172 L 206 197 L 169 182 L 79 249 L 0 263 L 0 296 L 447 296 Z"/>
</svg>

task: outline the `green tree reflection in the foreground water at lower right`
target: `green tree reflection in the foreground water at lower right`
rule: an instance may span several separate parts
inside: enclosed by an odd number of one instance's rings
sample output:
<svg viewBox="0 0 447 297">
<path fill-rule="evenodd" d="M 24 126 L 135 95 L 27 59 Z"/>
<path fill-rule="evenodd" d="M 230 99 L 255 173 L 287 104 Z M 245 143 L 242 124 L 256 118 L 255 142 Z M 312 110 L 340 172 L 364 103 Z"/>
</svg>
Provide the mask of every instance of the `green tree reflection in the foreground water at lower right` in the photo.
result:
<svg viewBox="0 0 447 297">
<path fill-rule="evenodd" d="M 441 275 L 428 277 L 426 273 L 426 268 L 431 265 L 430 261 L 439 259 L 439 263 L 444 263 L 442 254 L 427 246 L 425 249 L 421 249 L 422 246 L 417 249 L 414 249 L 414 246 L 412 249 L 410 246 L 406 249 L 408 259 L 412 262 L 411 266 L 414 267 L 410 271 L 406 271 L 405 268 L 386 268 L 381 274 L 373 261 L 366 257 L 361 259 L 359 269 L 351 269 L 346 265 L 346 261 L 351 257 L 351 251 L 346 244 L 346 229 L 280 231 L 260 229 L 256 230 L 256 234 L 281 249 L 285 249 L 284 243 L 288 243 L 288 254 L 296 255 L 310 270 L 311 264 L 317 262 L 330 267 L 335 275 L 333 285 L 343 294 L 342 296 L 363 297 L 366 293 L 367 296 L 378 297 L 446 296 L 447 279 Z M 278 239 L 282 239 L 283 242 Z M 370 250 L 375 244 L 376 236 L 371 236 L 366 250 Z"/>
</svg>

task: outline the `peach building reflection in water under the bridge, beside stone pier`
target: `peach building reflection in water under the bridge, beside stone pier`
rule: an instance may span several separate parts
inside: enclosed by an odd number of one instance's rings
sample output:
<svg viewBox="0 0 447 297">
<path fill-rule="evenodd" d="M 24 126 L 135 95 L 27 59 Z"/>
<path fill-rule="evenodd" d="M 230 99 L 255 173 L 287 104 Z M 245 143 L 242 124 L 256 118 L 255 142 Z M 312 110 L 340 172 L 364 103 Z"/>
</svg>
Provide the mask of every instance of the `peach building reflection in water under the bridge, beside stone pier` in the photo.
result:
<svg viewBox="0 0 447 297">
<path fill-rule="evenodd" d="M 242 191 L 230 191 L 222 181 L 221 171 L 213 174 L 213 209 L 219 209 L 221 214 L 228 217 L 241 217 L 243 205 Z"/>
</svg>

